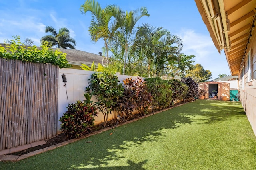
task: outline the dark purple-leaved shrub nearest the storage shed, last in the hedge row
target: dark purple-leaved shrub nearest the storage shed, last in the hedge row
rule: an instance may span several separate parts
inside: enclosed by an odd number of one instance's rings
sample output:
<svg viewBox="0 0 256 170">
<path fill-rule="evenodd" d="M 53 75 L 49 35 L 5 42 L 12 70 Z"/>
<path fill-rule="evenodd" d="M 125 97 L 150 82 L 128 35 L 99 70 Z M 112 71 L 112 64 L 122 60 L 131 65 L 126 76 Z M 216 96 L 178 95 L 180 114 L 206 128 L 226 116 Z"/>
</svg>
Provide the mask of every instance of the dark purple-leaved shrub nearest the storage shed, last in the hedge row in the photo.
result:
<svg viewBox="0 0 256 170">
<path fill-rule="evenodd" d="M 198 98 L 198 84 L 191 77 L 184 77 L 181 82 L 188 86 L 186 99 L 195 100 L 195 98 Z"/>
</svg>

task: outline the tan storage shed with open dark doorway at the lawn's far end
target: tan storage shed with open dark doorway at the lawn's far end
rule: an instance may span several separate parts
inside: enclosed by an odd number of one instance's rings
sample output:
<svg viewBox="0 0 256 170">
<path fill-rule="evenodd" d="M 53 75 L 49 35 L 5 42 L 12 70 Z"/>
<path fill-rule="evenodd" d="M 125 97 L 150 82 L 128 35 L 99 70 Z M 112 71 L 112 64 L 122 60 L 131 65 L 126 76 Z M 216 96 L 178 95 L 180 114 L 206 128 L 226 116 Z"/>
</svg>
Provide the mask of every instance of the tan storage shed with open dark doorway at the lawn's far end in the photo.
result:
<svg viewBox="0 0 256 170">
<path fill-rule="evenodd" d="M 206 90 L 205 98 L 216 98 L 219 100 L 230 100 L 229 83 L 224 82 L 202 82 L 198 83 L 202 90 Z"/>
</svg>

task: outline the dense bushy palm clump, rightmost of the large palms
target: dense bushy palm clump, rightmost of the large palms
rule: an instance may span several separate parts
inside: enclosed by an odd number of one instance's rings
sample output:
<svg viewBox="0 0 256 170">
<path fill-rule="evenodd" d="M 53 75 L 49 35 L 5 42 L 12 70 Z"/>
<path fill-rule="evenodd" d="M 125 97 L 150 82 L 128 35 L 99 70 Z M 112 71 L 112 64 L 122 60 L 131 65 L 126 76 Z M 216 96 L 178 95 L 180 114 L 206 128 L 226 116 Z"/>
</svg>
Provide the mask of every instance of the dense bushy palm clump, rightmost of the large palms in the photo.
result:
<svg viewBox="0 0 256 170">
<path fill-rule="evenodd" d="M 182 49 L 182 40 L 162 27 L 152 27 L 148 24 L 140 27 L 142 37 L 138 40 L 148 60 L 148 77 L 160 76 L 167 68 L 168 61 L 178 60 Z M 178 47 L 172 47 L 173 44 Z"/>
</svg>

